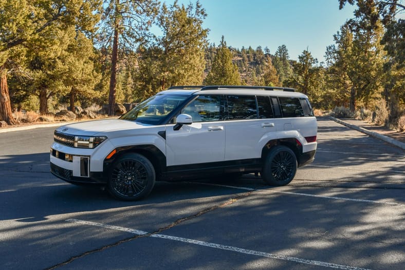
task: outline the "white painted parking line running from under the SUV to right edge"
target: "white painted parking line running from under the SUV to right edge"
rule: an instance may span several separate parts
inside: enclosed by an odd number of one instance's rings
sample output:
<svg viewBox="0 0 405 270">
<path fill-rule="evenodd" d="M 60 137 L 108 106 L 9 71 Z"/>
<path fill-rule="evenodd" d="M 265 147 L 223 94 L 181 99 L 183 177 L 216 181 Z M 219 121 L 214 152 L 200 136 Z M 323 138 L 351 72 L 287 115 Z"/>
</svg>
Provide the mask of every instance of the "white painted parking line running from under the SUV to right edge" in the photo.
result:
<svg viewBox="0 0 405 270">
<path fill-rule="evenodd" d="M 201 182 L 188 182 L 188 183 L 200 184 L 200 185 L 208 185 L 208 186 L 226 187 L 226 188 L 235 188 L 235 189 L 243 189 L 243 190 L 249 190 L 249 191 L 265 191 L 265 192 L 272 192 L 272 193 L 284 193 L 284 194 L 290 194 L 290 195 L 317 197 L 317 198 L 332 199 L 332 200 L 340 200 L 340 201 L 352 201 L 352 202 L 362 202 L 362 203 L 388 204 L 388 205 L 405 206 L 405 204 L 392 203 L 392 202 L 384 202 L 384 201 L 372 201 L 372 200 L 362 200 L 362 199 L 350 199 L 350 198 L 344 198 L 344 197 L 314 195 L 314 194 L 307 194 L 307 193 L 298 193 L 298 192 L 289 192 L 289 191 L 276 191 L 276 190 L 268 190 L 268 189 L 254 189 L 254 188 L 248 188 L 248 187 L 236 187 L 236 186 L 228 186 L 228 185 L 220 185 L 220 184 L 210 184 L 210 183 L 201 183 Z"/>
</svg>

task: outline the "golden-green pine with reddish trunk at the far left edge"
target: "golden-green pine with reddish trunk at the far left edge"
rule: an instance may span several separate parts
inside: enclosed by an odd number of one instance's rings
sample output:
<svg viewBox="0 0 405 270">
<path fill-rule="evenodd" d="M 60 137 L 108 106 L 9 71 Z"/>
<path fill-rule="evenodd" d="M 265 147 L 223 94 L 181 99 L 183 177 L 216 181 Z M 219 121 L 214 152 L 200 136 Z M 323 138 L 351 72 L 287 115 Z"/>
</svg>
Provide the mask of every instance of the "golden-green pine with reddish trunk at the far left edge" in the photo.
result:
<svg viewBox="0 0 405 270">
<path fill-rule="evenodd" d="M 91 33 L 100 0 L 0 0 L 0 120 L 15 124 L 7 85 L 7 74 L 24 66 L 27 48 L 46 50 L 54 32 L 75 25 Z M 12 20 L 10 20 L 12 18 Z"/>
</svg>

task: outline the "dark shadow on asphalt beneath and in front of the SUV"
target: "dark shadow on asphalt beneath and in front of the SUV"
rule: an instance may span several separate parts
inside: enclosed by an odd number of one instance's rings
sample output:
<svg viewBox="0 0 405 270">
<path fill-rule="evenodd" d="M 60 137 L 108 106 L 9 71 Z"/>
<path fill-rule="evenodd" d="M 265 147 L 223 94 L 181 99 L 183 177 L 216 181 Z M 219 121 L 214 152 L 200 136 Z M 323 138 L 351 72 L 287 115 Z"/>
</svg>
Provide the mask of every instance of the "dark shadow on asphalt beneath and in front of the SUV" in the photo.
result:
<svg viewBox="0 0 405 270">
<path fill-rule="evenodd" d="M 49 172 L 48 153 L 2 156 L 0 178 L 0 220 L 26 223 L 46 220 L 52 214 L 233 196 L 246 192 L 187 182 L 156 182 L 151 194 L 141 201 L 117 201 L 99 186 L 76 186 L 53 176 Z"/>
</svg>

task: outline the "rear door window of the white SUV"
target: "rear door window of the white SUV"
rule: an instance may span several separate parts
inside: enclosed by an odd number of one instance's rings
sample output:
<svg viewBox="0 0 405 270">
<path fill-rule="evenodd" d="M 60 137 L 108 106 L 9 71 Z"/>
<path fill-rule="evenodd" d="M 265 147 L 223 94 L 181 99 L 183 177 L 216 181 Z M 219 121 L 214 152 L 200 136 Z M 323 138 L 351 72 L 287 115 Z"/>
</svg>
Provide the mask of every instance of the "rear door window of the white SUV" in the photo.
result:
<svg viewBox="0 0 405 270">
<path fill-rule="evenodd" d="M 227 96 L 228 120 L 256 119 L 255 96 Z"/>
</svg>

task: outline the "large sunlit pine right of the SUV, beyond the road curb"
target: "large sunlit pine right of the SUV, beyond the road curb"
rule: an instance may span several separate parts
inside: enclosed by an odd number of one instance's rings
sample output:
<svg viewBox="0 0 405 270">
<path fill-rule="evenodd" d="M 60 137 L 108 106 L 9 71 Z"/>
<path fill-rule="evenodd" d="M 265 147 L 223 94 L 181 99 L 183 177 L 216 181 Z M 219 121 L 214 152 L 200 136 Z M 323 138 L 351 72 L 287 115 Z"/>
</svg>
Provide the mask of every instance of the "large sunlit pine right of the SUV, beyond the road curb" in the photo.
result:
<svg viewBox="0 0 405 270">
<path fill-rule="evenodd" d="M 370 26 L 370 24 L 369 24 Z M 351 30 L 347 23 L 341 27 L 341 32 L 335 35 L 337 47 L 329 47 L 329 58 L 334 59 L 332 70 L 335 70 L 347 82 L 342 91 L 349 92 L 349 109 L 356 111 L 358 102 L 367 106 L 373 97 L 380 95 L 381 80 L 383 79 L 384 51 L 380 45 L 382 27 L 371 28 L 366 21 Z M 353 29 L 353 28 L 352 28 Z"/>
</svg>

